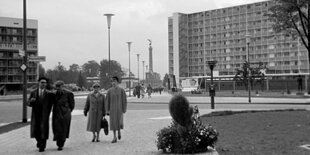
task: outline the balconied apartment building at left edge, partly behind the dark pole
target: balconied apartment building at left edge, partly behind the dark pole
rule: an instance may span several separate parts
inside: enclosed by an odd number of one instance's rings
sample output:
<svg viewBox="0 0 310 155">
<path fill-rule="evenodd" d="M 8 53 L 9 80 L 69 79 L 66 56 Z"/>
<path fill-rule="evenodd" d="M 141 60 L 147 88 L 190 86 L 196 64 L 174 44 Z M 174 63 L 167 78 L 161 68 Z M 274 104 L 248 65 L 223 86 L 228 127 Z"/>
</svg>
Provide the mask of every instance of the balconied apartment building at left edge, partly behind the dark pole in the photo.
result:
<svg viewBox="0 0 310 155">
<path fill-rule="evenodd" d="M 23 19 L 0 17 L 0 87 L 22 89 L 23 58 L 19 50 L 23 49 Z M 27 53 L 28 57 L 38 55 L 38 21 L 27 20 Z M 37 64 L 27 64 L 28 83 L 35 83 Z"/>
</svg>

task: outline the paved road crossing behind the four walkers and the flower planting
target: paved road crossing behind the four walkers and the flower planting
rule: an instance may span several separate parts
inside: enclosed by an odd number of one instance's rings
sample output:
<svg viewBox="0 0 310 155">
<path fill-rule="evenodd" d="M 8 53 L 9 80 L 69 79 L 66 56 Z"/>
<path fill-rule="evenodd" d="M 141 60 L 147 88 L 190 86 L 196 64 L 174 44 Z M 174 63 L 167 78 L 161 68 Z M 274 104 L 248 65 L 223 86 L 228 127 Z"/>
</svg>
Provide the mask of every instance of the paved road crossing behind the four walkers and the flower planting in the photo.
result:
<svg viewBox="0 0 310 155">
<path fill-rule="evenodd" d="M 203 103 L 203 98 L 189 98 L 190 101 L 194 101 L 198 103 L 198 107 L 201 110 L 210 109 L 209 103 Z M 152 103 L 151 101 L 158 100 L 161 103 Z M 237 98 L 237 100 L 240 100 Z M 84 108 L 84 104 L 86 101 L 86 96 L 77 96 L 75 97 L 75 110 L 77 111 L 75 114 L 81 114 L 81 111 Z M 165 95 L 154 95 L 151 99 L 140 99 L 137 100 L 136 98 L 129 97 L 128 101 L 128 111 L 130 110 L 163 110 L 168 111 L 168 102 L 169 97 Z M 241 101 L 240 101 L 241 102 Z M 215 104 L 215 108 L 217 110 L 242 110 L 242 109 L 251 109 L 251 110 L 259 110 L 259 109 L 309 109 L 310 106 L 308 104 L 233 104 L 233 103 L 221 103 Z M 31 108 L 27 108 L 28 118 L 31 116 Z M 11 122 L 18 122 L 22 120 L 22 102 L 21 100 L 11 100 L 11 101 L 0 101 L 0 126 L 11 123 Z"/>
</svg>

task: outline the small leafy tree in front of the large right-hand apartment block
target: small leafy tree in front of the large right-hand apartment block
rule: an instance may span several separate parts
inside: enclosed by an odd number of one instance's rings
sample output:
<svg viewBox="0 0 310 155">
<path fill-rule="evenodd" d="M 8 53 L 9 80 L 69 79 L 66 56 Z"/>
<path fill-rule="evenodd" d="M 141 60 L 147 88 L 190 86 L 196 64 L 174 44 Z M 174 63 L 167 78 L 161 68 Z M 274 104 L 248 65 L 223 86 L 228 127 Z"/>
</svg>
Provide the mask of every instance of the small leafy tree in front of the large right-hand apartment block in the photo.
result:
<svg viewBox="0 0 310 155">
<path fill-rule="evenodd" d="M 251 78 L 250 78 L 250 84 L 253 86 L 253 84 L 260 83 L 263 85 L 264 79 L 265 79 L 265 71 L 267 70 L 266 65 L 263 62 L 259 62 L 257 67 L 250 67 L 249 63 L 245 61 L 241 68 L 236 68 L 236 74 L 235 74 L 235 81 L 241 81 L 245 89 L 248 89 L 248 75 L 249 71 L 251 72 Z"/>
</svg>

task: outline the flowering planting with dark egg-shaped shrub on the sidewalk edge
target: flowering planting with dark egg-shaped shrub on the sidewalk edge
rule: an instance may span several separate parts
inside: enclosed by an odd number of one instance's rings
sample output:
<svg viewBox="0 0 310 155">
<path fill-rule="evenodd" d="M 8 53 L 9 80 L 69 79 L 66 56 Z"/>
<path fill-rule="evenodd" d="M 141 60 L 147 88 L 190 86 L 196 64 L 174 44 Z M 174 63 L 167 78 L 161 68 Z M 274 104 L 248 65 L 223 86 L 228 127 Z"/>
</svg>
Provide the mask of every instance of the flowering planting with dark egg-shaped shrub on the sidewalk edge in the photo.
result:
<svg viewBox="0 0 310 155">
<path fill-rule="evenodd" d="M 199 153 L 208 151 L 209 147 L 214 148 L 218 132 L 211 125 L 202 124 L 198 108 L 193 110 L 185 97 L 174 96 L 169 111 L 173 121 L 156 133 L 158 150 L 164 153 Z"/>
</svg>

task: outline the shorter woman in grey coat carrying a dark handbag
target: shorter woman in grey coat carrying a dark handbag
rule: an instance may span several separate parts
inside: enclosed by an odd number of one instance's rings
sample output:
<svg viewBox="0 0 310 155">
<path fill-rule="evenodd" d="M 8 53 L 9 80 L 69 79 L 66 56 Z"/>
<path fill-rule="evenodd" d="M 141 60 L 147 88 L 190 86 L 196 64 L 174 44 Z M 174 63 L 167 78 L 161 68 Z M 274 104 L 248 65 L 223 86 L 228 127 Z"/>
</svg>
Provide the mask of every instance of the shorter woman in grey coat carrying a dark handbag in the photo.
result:
<svg viewBox="0 0 310 155">
<path fill-rule="evenodd" d="M 101 120 L 105 116 L 105 97 L 99 92 L 100 85 L 98 83 L 93 84 L 93 89 L 94 91 L 89 93 L 86 98 L 86 104 L 84 106 L 84 116 L 87 116 L 88 113 L 86 130 L 93 133 L 92 142 L 99 142 Z"/>
</svg>

